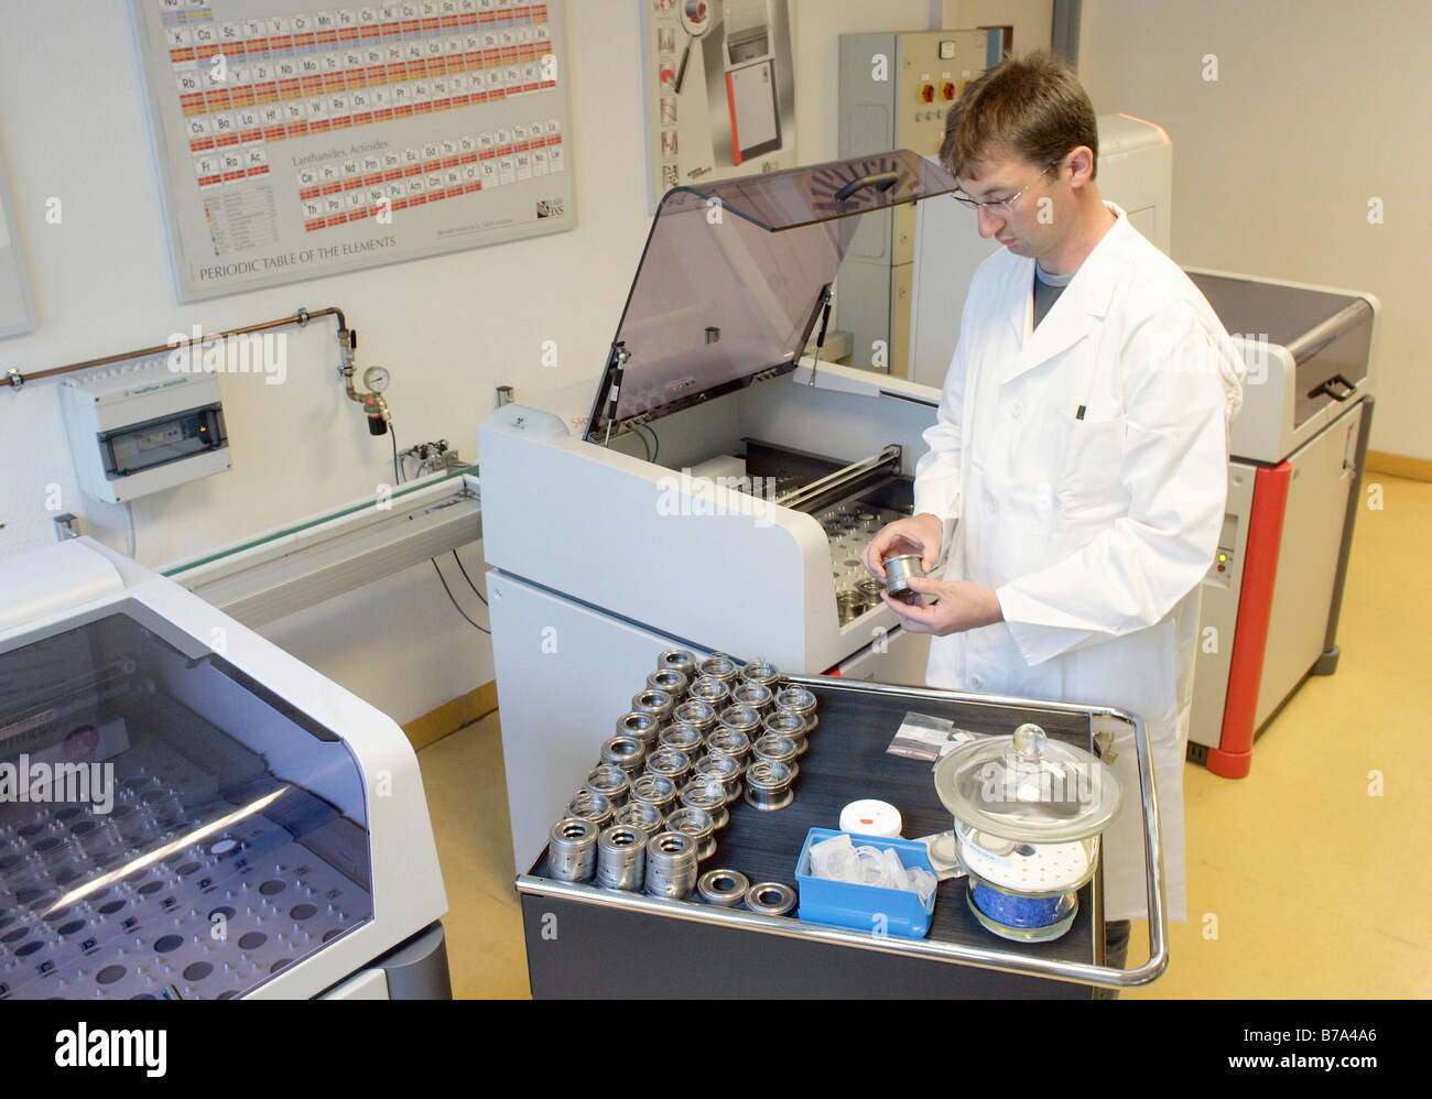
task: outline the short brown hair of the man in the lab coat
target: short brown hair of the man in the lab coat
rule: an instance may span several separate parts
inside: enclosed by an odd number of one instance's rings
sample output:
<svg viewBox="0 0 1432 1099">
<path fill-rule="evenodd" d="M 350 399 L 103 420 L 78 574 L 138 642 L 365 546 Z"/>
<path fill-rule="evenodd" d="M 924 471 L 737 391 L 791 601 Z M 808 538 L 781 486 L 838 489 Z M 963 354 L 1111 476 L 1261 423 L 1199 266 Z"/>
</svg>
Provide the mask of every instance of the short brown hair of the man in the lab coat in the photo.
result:
<svg viewBox="0 0 1432 1099">
<path fill-rule="evenodd" d="M 974 80 L 945 116 L 939 163 L 958 176 L 975 160 L 1014 153 L 1050 167 L 1087 145 L 1098 160 L 1094 104 L 1047 52 L 1001 62 Z"/>
</svg>

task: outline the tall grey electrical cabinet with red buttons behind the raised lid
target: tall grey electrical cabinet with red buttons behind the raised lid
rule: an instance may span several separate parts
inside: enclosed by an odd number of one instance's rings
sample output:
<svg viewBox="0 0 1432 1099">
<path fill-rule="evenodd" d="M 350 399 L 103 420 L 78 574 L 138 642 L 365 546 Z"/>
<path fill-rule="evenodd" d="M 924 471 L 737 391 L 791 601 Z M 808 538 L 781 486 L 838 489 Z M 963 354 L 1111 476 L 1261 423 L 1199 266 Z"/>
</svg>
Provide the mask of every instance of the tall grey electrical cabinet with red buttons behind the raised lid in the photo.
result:
<svg viewBox="0 0 1432 1099">
<path fill-rule="evenodd" d="M 1002 46 L 997 30 L 842 34 L 841 156 L 934 157 L 949 107 Z M 835 323 L 853 336 L 852 366 L 908 376 L 914 272 L 914 203 L 862 218 L 836 282 Z"/>
</svg>

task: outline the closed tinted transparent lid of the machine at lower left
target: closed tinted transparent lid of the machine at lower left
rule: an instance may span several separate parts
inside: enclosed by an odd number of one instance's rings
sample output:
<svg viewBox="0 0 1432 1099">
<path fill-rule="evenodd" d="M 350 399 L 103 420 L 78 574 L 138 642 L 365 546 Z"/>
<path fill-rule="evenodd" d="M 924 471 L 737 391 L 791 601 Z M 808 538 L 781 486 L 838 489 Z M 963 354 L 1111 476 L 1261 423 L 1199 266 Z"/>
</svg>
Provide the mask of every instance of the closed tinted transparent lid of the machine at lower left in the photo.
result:
<svg viewBox="0 0 1432 1099">
<path fill-rule="evenodd" d="M 226 999 L 374 914 L 348 746 L 120 607 L 0 653 L 0 997 Z"/>
</svg>

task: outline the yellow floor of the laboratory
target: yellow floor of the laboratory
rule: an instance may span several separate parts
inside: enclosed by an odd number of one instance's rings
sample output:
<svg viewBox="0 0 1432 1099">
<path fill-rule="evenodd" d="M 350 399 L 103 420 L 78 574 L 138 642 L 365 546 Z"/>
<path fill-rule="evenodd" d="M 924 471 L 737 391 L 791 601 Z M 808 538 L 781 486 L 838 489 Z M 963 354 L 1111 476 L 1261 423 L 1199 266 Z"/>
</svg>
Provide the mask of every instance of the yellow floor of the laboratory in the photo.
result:
<svg viewBox="0 0 1432 1099">
<path fill-rule="evenodd" d="M 1187 768 L 1190 922 L 1170 930 L 1167 973 L 1128 999 L 1432 996 L 1432 484 L 1373 484 L 1382 508 L 1358 517 L 1337 674 L 1303 684 L 1247 778 Z M 526 996 L 497 715 L 418 758 L 454 995 Z M 1131 962 L 1146 934 L 1136 926 Z"/>
</svg>

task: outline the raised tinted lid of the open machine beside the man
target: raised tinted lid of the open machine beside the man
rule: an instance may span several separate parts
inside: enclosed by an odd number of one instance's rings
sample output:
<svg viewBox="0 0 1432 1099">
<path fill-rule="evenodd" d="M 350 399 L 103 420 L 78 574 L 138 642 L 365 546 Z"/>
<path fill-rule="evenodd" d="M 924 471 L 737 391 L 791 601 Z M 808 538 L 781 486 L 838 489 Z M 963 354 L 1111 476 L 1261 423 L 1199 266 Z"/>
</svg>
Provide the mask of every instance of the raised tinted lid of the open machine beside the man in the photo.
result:
<svg viewBox="0 0 1432 1099">
<path fill-rule="evenodd" d="M 657 206 L 601 375 L 587 438 L 795 369 L 856 215 L 947 195 L 908 149 L 674 187 Z"/>
</svg>

